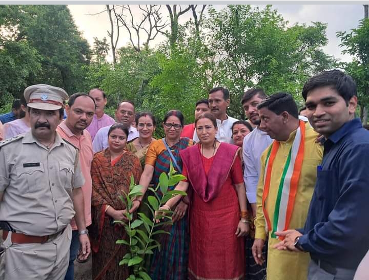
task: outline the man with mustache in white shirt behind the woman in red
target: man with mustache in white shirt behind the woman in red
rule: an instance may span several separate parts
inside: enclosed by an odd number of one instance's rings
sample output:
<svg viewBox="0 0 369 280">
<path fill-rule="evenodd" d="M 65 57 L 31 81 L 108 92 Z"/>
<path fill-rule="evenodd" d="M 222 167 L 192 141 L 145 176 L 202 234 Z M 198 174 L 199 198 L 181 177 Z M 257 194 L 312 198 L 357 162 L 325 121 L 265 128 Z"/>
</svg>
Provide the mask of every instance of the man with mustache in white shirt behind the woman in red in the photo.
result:
<svg viewBox="0 0 369 280">
<path fill-rule="evenodd" d="M 209 107 L 211 113 L 216 117 L 218 132 L 216 138 L 220 142 L 233 143 L 232 124 L 238 121 L 227 115 L 227 107 L 231 102 L 229 90 L 217 87 L 209 92 Z M 196 141 L 196 139 L 194 139 Z"/>
</svg>

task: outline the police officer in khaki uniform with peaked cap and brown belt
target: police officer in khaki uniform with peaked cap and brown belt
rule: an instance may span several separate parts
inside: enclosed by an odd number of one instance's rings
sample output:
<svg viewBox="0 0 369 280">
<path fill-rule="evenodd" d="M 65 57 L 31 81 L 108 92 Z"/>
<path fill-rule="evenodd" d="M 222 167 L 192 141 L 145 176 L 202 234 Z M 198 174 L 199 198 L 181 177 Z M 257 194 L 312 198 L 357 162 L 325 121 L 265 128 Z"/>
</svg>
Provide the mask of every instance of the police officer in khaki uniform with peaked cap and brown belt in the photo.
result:
<svg viewBox="0 0 369 280">
<path fill-rule="evenodd" d="M 74 216 L 90 253 L 78 150 L 55 132 L 68 94 L 37 84 L 24 96 L 31 131 L 0 144 L 0 279 L 64 279 Z"/>
</svg>

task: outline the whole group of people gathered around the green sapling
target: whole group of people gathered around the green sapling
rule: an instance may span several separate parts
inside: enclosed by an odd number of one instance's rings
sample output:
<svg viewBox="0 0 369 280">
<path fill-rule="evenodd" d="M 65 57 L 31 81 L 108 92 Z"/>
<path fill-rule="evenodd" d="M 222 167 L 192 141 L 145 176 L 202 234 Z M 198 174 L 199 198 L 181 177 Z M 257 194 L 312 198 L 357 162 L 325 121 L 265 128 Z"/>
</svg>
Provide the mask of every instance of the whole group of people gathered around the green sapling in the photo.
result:
<svg viewBox="0 0 369 280">
<path fill-rule="evenodd" d="M 170 110 L 159 124 L 131 100 L 114 120 L 101 89 L 31 85 L 0 126 L 0 279 L 69 280 L 90 257 L 93 279 L 126 279 L 128 247 L 115 241 L 128 234 L 113 222 L 167 210 L 170 234 L 144 261 L 152 279 L 366 279 L 369 132 L 355 81 L 324 71 L 302 97 L 299 111 L 288 93 L 249 89 L 245 121 L 216 87 L 194 104 L 194 123 Z M 148 189 L 171 163 L 186 177 L 172 189 L 187 196 L 153 214 Z M 131 177 L 142 196 L 126 209 Z"/>
</svg>

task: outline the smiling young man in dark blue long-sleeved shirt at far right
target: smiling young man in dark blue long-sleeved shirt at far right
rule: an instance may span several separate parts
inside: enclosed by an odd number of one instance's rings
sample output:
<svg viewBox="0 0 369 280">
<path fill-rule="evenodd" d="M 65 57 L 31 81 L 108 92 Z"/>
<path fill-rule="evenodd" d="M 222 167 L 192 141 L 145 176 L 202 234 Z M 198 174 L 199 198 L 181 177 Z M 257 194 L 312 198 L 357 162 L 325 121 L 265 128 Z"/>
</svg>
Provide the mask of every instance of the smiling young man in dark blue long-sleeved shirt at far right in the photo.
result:
<svg viewBox="0 0 369 280">
<path fill-rule="evenodd" d="M 369 132 L 355 118 L 354 80 L 339 70 L 305 83 L 308 118 L 324 156 L 303 229 L 276 232 L 280 250 L 310 252 L 309 280 L 353 279 L 369 249 Z"/>
</svg>

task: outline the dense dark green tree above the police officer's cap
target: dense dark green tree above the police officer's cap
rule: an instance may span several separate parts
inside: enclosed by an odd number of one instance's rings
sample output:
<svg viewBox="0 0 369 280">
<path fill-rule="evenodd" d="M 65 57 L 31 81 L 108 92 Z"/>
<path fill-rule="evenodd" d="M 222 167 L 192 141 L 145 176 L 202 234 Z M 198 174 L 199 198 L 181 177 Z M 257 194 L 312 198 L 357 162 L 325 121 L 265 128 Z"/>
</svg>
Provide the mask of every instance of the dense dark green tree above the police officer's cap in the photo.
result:
<svg viewBox="0 0 369 280">
<path fill-rule="evenodd" d="M 12 77 L 0 84 L 8 101 L 34 83 L 69 93 L 83 88 L 91 50 L 66 5 L 1 5 L 0 34 L 0 61 L 6 65 L 0 77 Z"/>
</svg>

